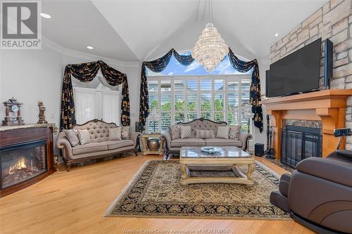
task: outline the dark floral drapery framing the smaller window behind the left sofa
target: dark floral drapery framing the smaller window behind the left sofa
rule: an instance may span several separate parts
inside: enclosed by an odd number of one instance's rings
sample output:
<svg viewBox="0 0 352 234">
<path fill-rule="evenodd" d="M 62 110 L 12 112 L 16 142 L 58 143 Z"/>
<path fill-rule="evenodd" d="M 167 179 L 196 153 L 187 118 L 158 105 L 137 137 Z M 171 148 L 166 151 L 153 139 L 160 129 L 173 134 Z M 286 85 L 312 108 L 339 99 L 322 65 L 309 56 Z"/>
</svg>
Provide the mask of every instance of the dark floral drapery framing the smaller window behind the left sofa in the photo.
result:
<svg viewBox="0 0 352 234">
<path fill-rule="evenodd" d="M 108 84 L 113 86 L 122 84 L 121 124 L 123 126 L 130 125 L 130 95 L 128 92 L 127 76 L 99 60 L 92 63 L 66 65 L 61 93 L 61 129 L 70 129 L 76 123 L 71 76 L 80 82 L 91 82 L 96 77 L 99 69 L 101 69 L 101 73 Z"/>
</svg>

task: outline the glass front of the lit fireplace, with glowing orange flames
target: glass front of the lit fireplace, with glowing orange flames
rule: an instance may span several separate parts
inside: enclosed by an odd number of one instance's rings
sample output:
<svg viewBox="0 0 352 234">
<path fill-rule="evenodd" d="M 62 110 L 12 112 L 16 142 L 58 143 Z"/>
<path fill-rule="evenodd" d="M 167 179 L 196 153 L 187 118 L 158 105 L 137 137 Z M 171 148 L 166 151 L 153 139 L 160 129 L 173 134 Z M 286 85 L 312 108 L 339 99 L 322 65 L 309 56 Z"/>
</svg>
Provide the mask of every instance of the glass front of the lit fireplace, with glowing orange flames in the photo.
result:
<svg viewBox="0 0 352 234">
<path fill-rule="evenodd" d="M 0 148 L 1 189 L 27 181 L 47 170 L 46 141 Z"/>
</svg>

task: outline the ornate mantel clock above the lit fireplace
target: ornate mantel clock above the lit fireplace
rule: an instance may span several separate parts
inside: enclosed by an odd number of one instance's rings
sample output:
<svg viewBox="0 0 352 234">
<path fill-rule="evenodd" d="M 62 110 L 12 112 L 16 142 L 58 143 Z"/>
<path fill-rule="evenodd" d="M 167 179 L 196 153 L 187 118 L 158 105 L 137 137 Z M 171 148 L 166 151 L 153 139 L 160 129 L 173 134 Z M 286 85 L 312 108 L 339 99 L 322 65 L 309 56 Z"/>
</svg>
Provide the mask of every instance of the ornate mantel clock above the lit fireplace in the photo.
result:
<svg viewBox="0 0 352 234">
<path fill-rule="evenodd" d="M 23 103 L 18 103 L 18 101 L 13 97 L 4 102 L 6 117 L 2 121 L 3 126 L 24 124 L 20 112 L 21 105 L 23 105 Z"/>
</svg>

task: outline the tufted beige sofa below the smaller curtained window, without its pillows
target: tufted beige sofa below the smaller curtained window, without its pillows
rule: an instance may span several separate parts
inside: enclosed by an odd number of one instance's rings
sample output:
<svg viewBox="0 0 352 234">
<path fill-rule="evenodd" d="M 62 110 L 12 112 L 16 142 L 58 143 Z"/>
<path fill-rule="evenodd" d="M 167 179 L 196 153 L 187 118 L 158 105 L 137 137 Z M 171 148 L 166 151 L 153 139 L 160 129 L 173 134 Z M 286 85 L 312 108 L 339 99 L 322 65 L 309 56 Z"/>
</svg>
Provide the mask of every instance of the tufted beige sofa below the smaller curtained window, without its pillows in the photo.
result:
<svg viewBox="0 0 352 234">
<path fill-rule="evenodd" d="M 85 124 L 76 124 L 72 129 L 87 129 L 91 143 L 74 147 L 66 138 L 66 134 L 61 131 L 58 134 L 56 147 L 61 149 L 67 169 L 70 170 L 71 165 L 74 163 L 118 155 L 122 152 L 134 152 L 137 156 L 139 133 L 131 132 L 130 139 L 127 140 L 108 141 L 108 129 L 114 127 L 117 127 L 116 124 L 108 124 L 98 119 L 91 120 Z"/>
</svg>

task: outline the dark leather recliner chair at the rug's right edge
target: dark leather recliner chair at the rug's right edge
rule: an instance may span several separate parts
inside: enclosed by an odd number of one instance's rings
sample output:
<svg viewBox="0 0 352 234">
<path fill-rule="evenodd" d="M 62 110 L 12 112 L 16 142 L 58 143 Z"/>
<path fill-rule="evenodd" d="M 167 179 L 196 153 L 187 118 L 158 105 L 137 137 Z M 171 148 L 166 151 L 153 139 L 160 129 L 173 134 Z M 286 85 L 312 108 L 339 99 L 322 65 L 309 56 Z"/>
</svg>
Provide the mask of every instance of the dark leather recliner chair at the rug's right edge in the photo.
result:
<svg viewBox="0 0 352 234">
<path fill-rule="evenodd" d="M 317 233 L 352 233 L 352 151 L 302 160 L 270 202 Z"/>
</svg>

